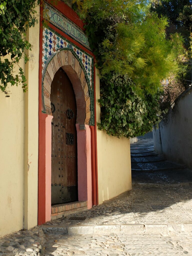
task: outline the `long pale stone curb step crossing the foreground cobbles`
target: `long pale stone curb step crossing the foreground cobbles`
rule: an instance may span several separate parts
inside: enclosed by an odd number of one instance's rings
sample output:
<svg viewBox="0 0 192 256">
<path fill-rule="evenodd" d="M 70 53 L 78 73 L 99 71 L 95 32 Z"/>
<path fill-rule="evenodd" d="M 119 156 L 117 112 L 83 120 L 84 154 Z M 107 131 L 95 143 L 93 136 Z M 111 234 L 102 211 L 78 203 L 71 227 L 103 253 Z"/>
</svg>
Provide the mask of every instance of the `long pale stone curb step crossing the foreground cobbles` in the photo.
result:
<svg viewBox="0 0 192 256">
<path fill-rule="evenodd" d="M 108 225 L 69 225 L 69 226 L 42 226 L 44 233 L 59 233 L 65 235 L 89 234 L 144 234 L 192 232 L 192 223 L 184 224 L 108 224 Z"/>
</svg>

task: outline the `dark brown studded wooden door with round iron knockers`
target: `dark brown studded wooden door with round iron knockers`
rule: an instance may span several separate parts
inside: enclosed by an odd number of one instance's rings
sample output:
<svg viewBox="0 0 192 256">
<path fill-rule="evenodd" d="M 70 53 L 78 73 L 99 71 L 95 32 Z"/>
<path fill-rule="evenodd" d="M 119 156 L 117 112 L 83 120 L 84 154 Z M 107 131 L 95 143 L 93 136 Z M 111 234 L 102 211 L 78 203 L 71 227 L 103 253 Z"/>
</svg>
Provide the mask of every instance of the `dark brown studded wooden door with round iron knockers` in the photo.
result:
<svg viewBox="0 0 192 256">
<path fill-rule="evenodd" d="M 72 84 L 60 68 L 51 83 L 51 204 L 78 201 L 77 105 Z"/>
</svg>

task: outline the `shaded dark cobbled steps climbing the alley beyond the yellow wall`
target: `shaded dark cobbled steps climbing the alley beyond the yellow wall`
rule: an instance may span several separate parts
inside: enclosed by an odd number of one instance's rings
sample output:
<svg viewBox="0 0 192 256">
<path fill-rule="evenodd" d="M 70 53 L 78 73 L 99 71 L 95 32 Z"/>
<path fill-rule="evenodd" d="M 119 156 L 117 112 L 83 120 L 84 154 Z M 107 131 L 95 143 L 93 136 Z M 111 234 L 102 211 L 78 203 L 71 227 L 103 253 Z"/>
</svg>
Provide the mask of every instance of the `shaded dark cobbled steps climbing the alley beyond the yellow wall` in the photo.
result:
<svg viewBox="0 0 192 256">
<path fill-rule="evenodd" d="M 148 152 L 145 151 L 148 149 Z M 135 151 L 139 153 L 135 153 Z M 192 184 L 192 171 L 184 165 L 166 161 L 153 148 L 153 140 L 143 139 L 131 144 L 132 183 L 162 184 L 175 187 Z"/>
</svg>

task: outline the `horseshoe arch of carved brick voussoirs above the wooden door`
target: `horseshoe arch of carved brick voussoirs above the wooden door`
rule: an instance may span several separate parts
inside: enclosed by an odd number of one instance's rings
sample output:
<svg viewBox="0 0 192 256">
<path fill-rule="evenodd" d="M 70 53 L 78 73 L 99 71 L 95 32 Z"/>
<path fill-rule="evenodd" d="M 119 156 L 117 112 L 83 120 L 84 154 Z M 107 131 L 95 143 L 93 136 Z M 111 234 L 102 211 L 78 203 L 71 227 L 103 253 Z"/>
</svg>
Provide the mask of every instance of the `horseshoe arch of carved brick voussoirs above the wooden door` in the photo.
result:
<svg viewBox="0 0 192 256">
<path fill-rule="evenodd" d="M 78 56 L 69 49 L 62 49 L 50 56 L 43 74 L 42 112 L 52 115 L 50 91 L 55 73 L 62 68 L 69 77 L 77 102 L 77 123 L 90 125 L 93 119 L 93 98 L 86 71 Z"/>
</svg>

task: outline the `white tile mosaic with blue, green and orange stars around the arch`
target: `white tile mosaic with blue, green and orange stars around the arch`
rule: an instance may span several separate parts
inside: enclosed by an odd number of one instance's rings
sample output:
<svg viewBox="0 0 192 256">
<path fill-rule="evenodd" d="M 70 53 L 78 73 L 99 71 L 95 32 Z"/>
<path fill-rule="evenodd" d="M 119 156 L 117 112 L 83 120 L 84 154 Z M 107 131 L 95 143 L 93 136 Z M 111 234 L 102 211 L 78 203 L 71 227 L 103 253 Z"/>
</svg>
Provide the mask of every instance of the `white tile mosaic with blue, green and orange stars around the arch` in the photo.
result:
<svg viewBox="0 0 192 256">
<path fill-rule="evenodd" d="M 66 38 L 58 35 L 50 28 L 43 28 L 43 47 L 42 47 L 42 72 L 44 71 L 45 65 L 49 57 L 57 50 L 62 48 L 70 48 L 79 57 L 83 67 L 87 72 L 87 77 L 92 88 L 93 83 L 93 57 L 82 51 L 76 45 L 71 44 Z"/>
</svg>

